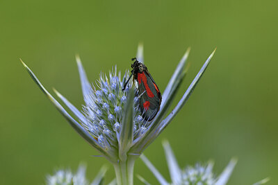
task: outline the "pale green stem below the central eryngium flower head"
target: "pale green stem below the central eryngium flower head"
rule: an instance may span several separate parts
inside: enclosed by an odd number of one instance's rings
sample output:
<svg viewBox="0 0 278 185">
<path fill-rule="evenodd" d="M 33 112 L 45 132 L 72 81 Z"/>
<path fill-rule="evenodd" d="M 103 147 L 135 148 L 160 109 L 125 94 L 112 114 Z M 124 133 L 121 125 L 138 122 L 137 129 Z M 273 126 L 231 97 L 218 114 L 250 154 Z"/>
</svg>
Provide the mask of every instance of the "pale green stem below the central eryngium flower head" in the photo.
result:
<svg viewBox="0 0 278 185">
<path fill-rule="evenodd" d="M 136 157 L 127 157 L 125 161 L 114 164 L 117 185 L 133 185 L 133 168 Z"/>
</svg>

